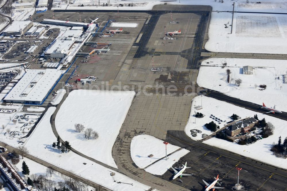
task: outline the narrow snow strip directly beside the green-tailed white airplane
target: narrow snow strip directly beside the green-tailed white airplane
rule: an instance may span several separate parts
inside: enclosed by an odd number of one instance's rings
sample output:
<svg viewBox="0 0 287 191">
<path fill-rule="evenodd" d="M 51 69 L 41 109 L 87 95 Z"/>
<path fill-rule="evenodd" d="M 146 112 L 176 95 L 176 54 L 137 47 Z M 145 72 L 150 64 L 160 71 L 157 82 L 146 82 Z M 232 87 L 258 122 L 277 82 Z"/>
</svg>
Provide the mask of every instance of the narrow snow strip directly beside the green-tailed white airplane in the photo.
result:
<svg viewBox="0 0 287 191">
<path fill-rule="evenodd" d="M 181 157 L 189 153 L 190 151 L 187 149 L 180 149 L 179 151 L 176 151 L 175 153 L 172 153 L 171 155 L 168 156 L 168 159 L 165 160 L 159 160 L 156 163 L 150 165 L 145 171 L 155 174 L 155 175 L 163 175 L 174 163 L 179 161 Z"/>
</svg>

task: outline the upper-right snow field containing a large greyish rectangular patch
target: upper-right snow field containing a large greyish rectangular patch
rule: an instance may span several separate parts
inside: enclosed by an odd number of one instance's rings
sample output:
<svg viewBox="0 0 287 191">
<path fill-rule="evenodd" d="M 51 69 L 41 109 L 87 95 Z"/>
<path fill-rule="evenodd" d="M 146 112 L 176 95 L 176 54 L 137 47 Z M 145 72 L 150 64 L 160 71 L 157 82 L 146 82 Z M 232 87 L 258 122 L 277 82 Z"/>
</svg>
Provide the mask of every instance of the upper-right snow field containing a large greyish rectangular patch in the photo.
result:
<svg viewBox="0 0 287 191">
<path fill-rule="evenodd" d="M 287 15 L 212 12 L 205 48 L 212 52 L 286 54 Z M 227 24 L 228 28 L 225 28 Z"/>
</svg>

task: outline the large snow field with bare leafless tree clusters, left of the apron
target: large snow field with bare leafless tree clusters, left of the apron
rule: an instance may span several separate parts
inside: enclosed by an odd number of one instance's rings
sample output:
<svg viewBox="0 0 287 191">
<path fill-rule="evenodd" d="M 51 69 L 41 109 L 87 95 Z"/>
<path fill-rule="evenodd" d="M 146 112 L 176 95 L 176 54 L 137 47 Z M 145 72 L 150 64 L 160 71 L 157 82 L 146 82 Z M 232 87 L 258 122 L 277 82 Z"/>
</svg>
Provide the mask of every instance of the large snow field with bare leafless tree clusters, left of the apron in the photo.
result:
<svg viewBox="0 0 287 191">
<path fill-rule="evenodd" d="M 57 132 L 74 149 L 117 168 L 112 157 L 112 147 L 134 95 L 134 91 L 71 91 L 57 113 Z M 76 123 L 97 131 L 99 138 L 85 139 L 84 132 L 75 132 Z"/>
</svg>

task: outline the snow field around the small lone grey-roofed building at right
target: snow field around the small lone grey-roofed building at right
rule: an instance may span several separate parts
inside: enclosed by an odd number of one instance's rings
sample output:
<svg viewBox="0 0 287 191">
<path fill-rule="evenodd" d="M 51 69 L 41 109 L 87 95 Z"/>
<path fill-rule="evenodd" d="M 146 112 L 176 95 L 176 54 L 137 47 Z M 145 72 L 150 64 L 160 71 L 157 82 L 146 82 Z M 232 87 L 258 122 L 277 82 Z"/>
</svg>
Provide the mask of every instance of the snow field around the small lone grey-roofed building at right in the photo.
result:
<svg viewBox="0 0 287 191">
<path fill-rule="evenodd" d="M 222 64 L 226 67 L 222 68 Z M 266 106 L 274 106 L 282 111 L 287 108 L 287 84 L 283 83 L 283 75 L 287 72 L 287 61 L 267 59 L 228 59 L 210 58 L 201 63 L 197 84 L 201 87 L 214 89 L 241 100 Z M 253 75 L 242 74 L 243 66 L 253 66 Z M 227 83 L 226 69 L 230 69 L 230 78 L 242 79 L 238 87 L 234 80 Z M 212 75 L 210 75 L 212 73 Z M 275 79 L 279 77 L 279 79 Z M 267 85 L 259 91 L 261 84 Z"/>
</svg>

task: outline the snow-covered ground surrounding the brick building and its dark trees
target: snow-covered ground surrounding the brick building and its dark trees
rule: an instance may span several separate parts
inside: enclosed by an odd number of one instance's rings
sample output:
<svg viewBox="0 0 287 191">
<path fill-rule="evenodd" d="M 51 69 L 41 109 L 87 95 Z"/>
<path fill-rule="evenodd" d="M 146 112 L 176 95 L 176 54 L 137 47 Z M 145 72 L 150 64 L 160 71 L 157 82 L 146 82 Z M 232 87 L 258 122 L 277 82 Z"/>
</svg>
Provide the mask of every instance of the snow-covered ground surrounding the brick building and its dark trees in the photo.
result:
<svg viewBox="0 0 287 191">
<path fill-rule="evenodd" d="M 196 97 L 196 105 L 197 106 L 201 105 L 200 96 Z M 228 151 L 232 151 L 234 153 L 238 153 L 240 155 L 250 157 L 258 161 L 262 161 L 264 163 L 269 163 L 271 165 L 287 169 L 287 159 L 278 158 L 275 155 L 273 155 L 273 153 L 270 151 L 272 144 L 278 142 L 279 136 L 284 138 L 287 136 L 285 130 L 285 127 L 287 126 L 287 121 L 280 120 L 278 118 L 274 118 L 268 115 L 264 115 L 262 113 L 253 112 L 251 110 L 247 110 L 245 108 L 234 106 L 232 104 L 228 104 L 226 102 L 222 102 L 205 96 L 202 97 L 202 109 L 199 110 L 199 112 L 201 112 L 205 116 L 201 119 L 197 118 L 195 124 L 190 123 L 185 127 L 185 133 L 189 137 L 191 137 L 190 129 L 196 128 L 201 131 L 205 130 L 203 128 L 204 124 L 212 121 L 212 118 L 209 117 L 210 114 L 213 114 L 214 116 L 219 117 L 220 119 L 224 118 L 227 119 L 233 113 L 237 114 L 241 118 L 253 117 L 255 114 L 257 114 L 259 120 L 265 118 L 266 122 L 271 122 L 274 125 L 275 127 L 274 135 L 271 135 L 262 140 L 258 140 L 256 143 L 253 143 L 251 145 L 238 145 L 237 143 L 231 143 L 222 139 L 217 139 L 215 137 L 208 139 L 207 141 L 203 141 L 203 143 L 219 147 Z"/>
</svg>

